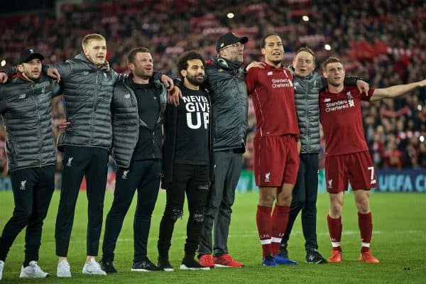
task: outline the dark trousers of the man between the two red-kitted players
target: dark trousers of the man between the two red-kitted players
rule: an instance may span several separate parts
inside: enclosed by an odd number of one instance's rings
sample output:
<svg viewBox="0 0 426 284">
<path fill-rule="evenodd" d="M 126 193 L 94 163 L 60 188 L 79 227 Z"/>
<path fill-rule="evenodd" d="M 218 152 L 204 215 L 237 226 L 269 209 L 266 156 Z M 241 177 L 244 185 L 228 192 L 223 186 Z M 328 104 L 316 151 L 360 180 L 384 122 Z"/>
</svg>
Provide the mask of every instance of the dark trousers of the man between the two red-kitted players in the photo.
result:
<svg viewBox="0 0 426 284">
<path fill-rule="evenodd" d="M 293 190 L 288 225 L 281 241 L 287 246 L 295 219 L 302 210 L 302 231 L 305 249 L 318 249 L 317 244 L 318 153 L 300 154 L 300 168 Z"/>
</svg>

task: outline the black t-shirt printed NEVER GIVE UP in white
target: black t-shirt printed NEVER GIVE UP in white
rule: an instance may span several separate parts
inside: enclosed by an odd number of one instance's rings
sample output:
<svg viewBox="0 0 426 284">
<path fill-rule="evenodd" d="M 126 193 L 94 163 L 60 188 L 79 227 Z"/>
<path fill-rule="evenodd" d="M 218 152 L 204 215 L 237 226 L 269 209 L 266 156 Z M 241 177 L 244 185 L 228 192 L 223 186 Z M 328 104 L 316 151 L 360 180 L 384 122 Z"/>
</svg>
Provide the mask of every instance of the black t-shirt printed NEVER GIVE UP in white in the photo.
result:
<svg viewBox="0 0 426 284">
<path fill-rule="evenodd" d="M 209 165 L 208 94 L 182 86 L 178 107 L 175 163 Z"/>
</svg>

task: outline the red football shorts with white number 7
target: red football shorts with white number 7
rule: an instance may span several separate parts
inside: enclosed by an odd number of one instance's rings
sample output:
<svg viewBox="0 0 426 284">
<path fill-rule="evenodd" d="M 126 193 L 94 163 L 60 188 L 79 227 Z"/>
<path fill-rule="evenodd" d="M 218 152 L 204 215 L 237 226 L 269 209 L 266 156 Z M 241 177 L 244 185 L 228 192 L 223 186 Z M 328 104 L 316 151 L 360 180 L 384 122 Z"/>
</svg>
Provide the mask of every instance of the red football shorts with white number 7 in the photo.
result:
<svg viewBox="0 0 426 284">
<path fill-rule="evenodd" d="M 329 193 L 348 190 L 348 182 L 352 190 L 376 187 L 376 173 L 368 151 L 326 157 L 325 182 Z"/>
</svg>

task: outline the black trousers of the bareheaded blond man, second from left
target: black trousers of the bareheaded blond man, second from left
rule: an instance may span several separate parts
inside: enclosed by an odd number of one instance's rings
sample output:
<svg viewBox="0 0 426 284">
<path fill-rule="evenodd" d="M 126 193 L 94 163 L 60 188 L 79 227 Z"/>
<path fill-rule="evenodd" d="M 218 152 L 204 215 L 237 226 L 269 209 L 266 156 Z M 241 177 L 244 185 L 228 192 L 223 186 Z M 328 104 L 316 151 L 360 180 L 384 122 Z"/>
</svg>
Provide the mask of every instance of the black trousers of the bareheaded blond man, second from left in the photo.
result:
<svg viewBox="0 0 426 284">
<path fill-rule="evenodd" d="M 97 256 L 102 229 L 108 151 L 97 147 L 65 146 L 62 160 L 62 189 L 56 217 L 56 255 L 65 257 L 70 246 L 75 204 L 83 175 L 87 182 L 87 256 Z"/>
</svg>

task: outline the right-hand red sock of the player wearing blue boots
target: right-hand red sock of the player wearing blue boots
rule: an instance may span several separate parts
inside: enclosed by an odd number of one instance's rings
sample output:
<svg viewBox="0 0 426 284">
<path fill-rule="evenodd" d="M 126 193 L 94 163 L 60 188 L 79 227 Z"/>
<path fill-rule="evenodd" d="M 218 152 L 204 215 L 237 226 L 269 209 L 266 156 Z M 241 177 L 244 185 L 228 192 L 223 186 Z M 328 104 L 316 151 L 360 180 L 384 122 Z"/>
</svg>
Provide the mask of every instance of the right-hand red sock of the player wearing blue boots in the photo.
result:
<svg viewBox="0 0 426 284">
<path fill-rule="evenodd" d="M 280 250 L 281 239 L 283 239 L 285 229 L 288 224 L 288 214 L 290 206 L 280 206 L 275 204 L 272 213 L 272 255 L 276 256 Z"/>
</svg>

